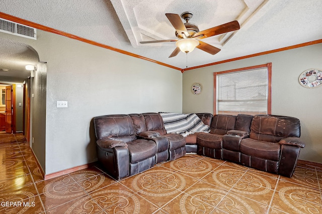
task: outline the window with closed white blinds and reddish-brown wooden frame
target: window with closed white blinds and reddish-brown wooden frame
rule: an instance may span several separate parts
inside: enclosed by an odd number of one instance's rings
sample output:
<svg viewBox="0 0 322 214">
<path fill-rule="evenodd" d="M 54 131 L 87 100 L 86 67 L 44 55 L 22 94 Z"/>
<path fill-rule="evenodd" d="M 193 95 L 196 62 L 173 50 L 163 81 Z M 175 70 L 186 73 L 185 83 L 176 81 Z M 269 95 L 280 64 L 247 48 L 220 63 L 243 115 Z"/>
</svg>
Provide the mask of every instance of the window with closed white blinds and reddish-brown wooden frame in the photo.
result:
<svg viewBox="0 0 322 214">
<path fill-rule="evenodd" d="M 272 64 L 214 73 L 214 114 L 271 114 Z"/>
</svg>

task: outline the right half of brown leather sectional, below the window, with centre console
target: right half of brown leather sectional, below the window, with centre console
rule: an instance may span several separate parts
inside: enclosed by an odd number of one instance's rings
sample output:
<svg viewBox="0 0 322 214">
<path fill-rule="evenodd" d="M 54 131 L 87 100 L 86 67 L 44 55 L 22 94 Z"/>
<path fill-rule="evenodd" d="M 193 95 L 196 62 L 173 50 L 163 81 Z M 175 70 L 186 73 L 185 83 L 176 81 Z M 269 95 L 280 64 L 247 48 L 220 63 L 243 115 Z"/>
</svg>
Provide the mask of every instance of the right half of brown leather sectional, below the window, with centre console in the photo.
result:
<svg viewBox="0 0 322 214">
<path fill-rule="evenodd" d="M 215 115 L 209 133 L 197 135 L 197 153 L 286 177 L 300 148 L 300 121 L 277 115 Z"/>
</svg>

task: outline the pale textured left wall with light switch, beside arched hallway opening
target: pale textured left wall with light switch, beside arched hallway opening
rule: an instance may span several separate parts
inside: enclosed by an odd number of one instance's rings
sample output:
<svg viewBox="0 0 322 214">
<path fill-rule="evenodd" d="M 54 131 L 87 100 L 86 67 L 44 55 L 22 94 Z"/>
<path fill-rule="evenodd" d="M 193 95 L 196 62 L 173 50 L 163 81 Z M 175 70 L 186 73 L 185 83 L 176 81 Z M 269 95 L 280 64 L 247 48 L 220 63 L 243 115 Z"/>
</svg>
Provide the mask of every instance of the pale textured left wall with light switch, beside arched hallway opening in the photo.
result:
<svg viewBox="0 0 322 214">
<path fill-rule="evenodd" d="M 182 112 L 178 70 L 43 31 L 36 41 L 0 37 L 30 45 L 47 62 L 46 78 L 33 79 L 31 98 L 32 148 L 45 174 L 97 160 L 95 116 Z M 68 101 L 68 108 L 56 101 Z"/>
</svg>

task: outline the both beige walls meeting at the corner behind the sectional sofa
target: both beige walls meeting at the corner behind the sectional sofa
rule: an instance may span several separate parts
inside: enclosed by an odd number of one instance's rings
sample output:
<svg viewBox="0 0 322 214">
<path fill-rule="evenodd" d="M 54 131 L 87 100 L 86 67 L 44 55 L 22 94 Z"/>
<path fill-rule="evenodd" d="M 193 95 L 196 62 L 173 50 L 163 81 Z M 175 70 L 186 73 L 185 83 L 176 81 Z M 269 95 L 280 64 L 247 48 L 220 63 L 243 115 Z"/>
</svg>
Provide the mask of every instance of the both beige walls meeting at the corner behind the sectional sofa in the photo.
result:
<svg viewBox="0 0 322 214">
<path fill-rule="evenodd" d="M 0 33 L 1 37 L 30 45 L 40 60 L 47 62 L 46 77 L 35 76 L 40 83 L 34 92 L 41 97 L 31 98 L 37 105 L 32 112 L 32 147 L 46 174 L 96 160 L 93 117 L 157 111 L 212 113 L 213 72 L 269 62 L 273 70 L 272 113 L 299 118 L 301 138 L 306 141 L 300 159 L 322 162 L 322 118 L 318 114 L 322 87 L 306 89 L 298 83 L 304 70 L 322 69 L 321 44 L 182 75 L 174 69 L 51 33 L 38 31 L 37 35 L 34 41 Z M 203 85 L 200 95 L 191 93 L 194 82 Z M 56 101 L 68 101 L 68 108 L 57 108 Z M 37 114 L 37 109 L 44 115 Z"/>
</svg>

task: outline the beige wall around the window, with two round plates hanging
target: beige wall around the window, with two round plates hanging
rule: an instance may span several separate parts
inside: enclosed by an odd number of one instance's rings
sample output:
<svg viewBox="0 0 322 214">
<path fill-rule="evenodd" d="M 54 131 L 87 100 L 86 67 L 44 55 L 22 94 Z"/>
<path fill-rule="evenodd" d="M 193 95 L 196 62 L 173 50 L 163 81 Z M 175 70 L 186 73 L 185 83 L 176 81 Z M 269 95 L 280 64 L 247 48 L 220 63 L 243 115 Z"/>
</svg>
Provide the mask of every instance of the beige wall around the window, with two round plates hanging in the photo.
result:
<svg viewBox="0 0 322 214">
<path fill-rule="evenodd" d="M 299 75 L 310 68 L 322 70 L 322 44 L 268 54 L 186 71 L 183 74 L 183 112 L 213 113 L 213 72 L 272 62 L 272 114 L 297 117 L 306 147 L 299 159 L 322 163 L 322 86 L 304 88 Z M 203 85 L 200 95 L 191 93 L 193 83 Z"/>
</svg>

